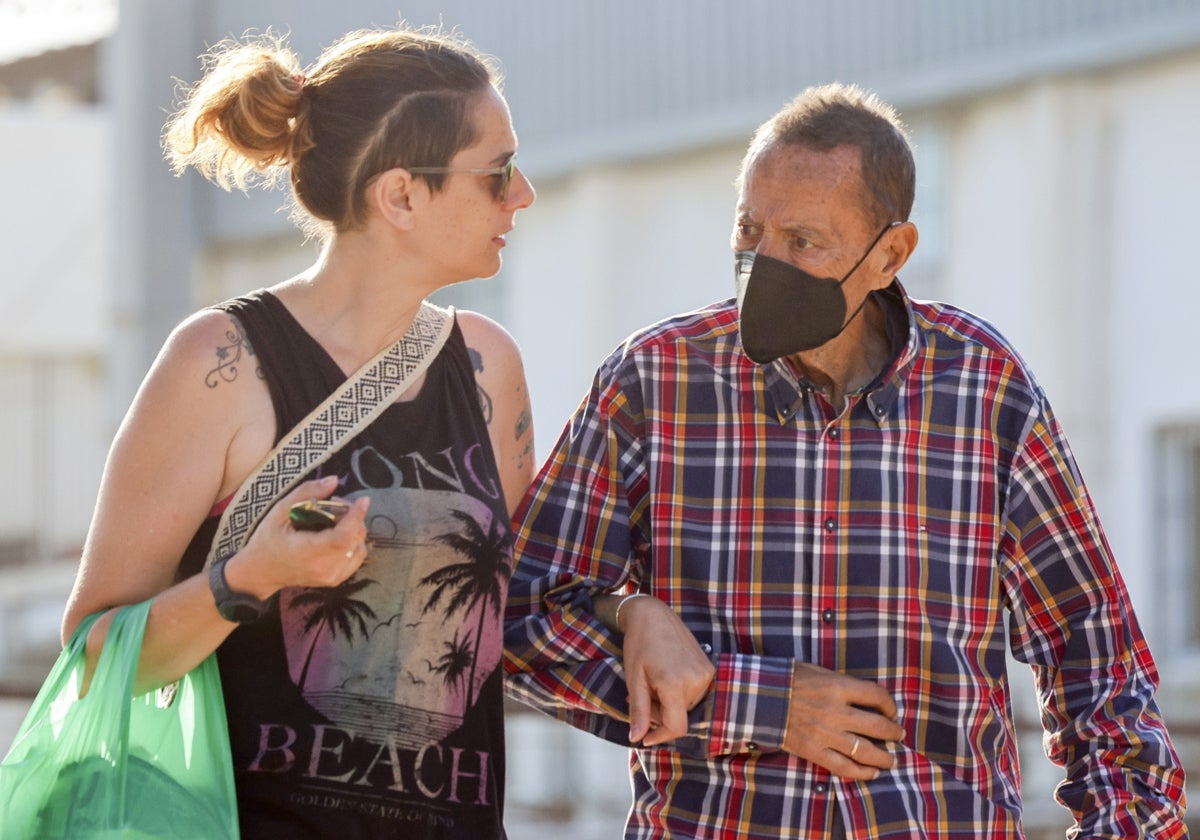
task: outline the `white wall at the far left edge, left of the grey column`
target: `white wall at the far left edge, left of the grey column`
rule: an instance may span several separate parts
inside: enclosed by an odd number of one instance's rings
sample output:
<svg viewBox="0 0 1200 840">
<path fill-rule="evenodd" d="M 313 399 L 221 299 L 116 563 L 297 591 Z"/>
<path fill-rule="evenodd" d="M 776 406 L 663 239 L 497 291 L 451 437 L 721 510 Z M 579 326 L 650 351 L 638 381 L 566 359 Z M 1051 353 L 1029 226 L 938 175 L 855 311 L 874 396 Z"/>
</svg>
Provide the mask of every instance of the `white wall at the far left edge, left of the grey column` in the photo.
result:
<svg viewBox="0 0 1200 840">
<path fill-rule="evenodd" d="M 0 539 L 83 542 L 112 433 L 102 422 L 110 126 L 95 107 L 0 102 Z"/>
</svg>

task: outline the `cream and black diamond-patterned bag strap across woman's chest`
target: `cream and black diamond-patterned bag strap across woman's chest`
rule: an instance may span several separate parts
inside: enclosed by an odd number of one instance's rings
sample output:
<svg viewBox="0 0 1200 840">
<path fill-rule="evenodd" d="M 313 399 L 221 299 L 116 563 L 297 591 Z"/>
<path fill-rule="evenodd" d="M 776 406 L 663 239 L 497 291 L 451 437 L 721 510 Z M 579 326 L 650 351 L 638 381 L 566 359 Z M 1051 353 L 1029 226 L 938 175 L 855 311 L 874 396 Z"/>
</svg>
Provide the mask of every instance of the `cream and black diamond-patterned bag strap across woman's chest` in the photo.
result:
<svg viewBox="0 0 1200 840">
<path fill-rule="evenodd" d="M 452 307 L 422 301 L 404 336 L 296 424 L 242 482 L 221 515 L 204 566 L 236 552 L 278 497 L 396 402 L 433 362 L 452 328 Z"/>
</svg>

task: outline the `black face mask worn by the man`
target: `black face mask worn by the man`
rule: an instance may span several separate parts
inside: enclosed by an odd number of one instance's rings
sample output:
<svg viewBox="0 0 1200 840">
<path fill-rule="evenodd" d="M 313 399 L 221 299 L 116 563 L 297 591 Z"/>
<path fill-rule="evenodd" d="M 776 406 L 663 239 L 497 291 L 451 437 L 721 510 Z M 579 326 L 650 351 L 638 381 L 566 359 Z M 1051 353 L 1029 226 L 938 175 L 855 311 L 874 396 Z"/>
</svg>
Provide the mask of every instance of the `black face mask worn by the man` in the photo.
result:
<svg viewBox="0 0 1200 840">
<path fill-rule="evenodd" d="M 775 359 L 811 350 L 841 335 L 866 304 L 846 317 L 841 287 L 858 270 L 893 222 L 880 230 L 858 262 L 841 280 L 814 277 L 808 271 L 754 251 L 738 251 L 733 270 L 738 289 L 738 329 L 742 348 L 766 365 Z"/>
</svg>

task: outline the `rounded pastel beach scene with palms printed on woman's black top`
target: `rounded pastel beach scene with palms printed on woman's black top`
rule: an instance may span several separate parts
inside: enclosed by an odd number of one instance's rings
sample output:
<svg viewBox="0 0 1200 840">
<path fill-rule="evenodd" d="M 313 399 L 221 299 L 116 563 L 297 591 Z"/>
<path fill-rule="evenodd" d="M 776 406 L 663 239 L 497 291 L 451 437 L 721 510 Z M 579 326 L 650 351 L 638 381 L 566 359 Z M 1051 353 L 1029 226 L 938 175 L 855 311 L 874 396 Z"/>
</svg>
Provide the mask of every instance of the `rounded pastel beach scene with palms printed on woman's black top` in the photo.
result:
<svg viewBox="0 0 1200 840">
<path fill-rule="evenodd" d="M 420 750 L 462 726 L 499 666 L 511 526 L 499 505 L 469 494 L 397 488 L 371 494 L 368 528 L 370 584 L 281 592 L 288 668 L 335 726 Z M 445 656 L 451 647 L 458 661 Z M 433 671 L 442 665 L 458 676 L 448 682 L 449 671 Z"/>
</svg>

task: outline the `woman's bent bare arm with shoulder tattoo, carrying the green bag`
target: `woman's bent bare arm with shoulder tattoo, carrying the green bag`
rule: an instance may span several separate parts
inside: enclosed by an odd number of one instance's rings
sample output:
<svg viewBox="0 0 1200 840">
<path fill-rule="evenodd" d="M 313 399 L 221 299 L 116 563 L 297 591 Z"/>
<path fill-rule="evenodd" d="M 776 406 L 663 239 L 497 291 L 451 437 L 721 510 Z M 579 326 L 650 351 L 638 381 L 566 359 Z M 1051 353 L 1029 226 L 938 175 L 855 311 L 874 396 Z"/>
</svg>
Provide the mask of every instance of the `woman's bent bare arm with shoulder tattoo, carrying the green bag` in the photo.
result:
<svg viewBox="0 0 1200 840">
<path fill-rule="evenodd" d="M 228 364 L 232 338 L 241 342 L 236 366 Z M 62 638 L 88 614 L 155 598 L 139 688 L 186 673 L 235 626 L 216 611 L 206 575 L 175 581 L 184 551 L 214 504 L 271 449 L 275 412 L 254 365 L 234 318 L 217 311 L 193 316 L 155 360 L 109 451 Z M 365 535 L 365 509 L 323 534 L 287 526 L 284 504 L 332 488 L 306 482 L 276 505 L 227 564 L 229 587 L 268 598 L 286 584 L 336 583 L 332 578 L 352 574 L 346 566 L 358 568 L 362 552 L 346 554 Z M 109 623 L 103 617 L 89 635 L 89 673 Z"/>
</svg>

